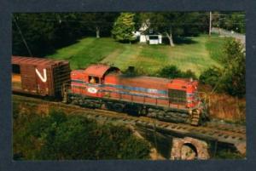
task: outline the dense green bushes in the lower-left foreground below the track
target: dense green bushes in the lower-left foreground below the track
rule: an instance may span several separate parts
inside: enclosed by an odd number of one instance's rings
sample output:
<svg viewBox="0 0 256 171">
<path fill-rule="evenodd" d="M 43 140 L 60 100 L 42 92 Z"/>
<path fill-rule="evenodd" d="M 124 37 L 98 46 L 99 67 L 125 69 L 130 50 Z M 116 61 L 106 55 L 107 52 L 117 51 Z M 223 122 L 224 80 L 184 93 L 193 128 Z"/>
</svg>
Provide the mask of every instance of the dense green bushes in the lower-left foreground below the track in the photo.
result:
<svg viewBox="0 0 256 171">
<path fill-rule="evenodd" d="M 150 152 L 148 142 L 125 126 L 62 111 L 50 111 L 47 117 L 22 113 L 15 103 L 13 136 L 15 160 L 148 159 Z"/>
</svg>

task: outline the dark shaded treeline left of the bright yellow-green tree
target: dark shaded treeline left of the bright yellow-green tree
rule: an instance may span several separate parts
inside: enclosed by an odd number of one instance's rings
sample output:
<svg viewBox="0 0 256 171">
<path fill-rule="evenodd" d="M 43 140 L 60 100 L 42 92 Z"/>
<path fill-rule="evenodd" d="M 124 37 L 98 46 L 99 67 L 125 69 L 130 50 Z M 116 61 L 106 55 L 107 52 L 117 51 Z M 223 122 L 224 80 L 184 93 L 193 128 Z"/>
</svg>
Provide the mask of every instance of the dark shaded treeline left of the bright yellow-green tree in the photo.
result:
<svg viewBox="0 0 256 171">
<path fill-rule="evenodd" d="M 109 37 L 118 13 L 14 14 L 13 54 L 44 57 L 81 37 Z"/>
</svg>

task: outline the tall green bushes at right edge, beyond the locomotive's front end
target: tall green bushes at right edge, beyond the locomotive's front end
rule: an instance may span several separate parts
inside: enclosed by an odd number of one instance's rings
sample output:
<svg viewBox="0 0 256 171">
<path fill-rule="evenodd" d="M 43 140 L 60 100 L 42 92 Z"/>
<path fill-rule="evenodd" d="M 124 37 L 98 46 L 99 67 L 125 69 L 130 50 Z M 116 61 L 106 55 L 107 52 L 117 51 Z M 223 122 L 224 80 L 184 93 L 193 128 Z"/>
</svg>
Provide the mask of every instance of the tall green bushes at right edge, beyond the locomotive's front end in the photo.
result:
<svg viewBox="0 0 256 171">
<path fill-rule="evenodd" d="M 210 84 L 213 90 L 226 92 L 237 97 L 246 94 L 246 57 L 241 43 L 234 38 L 226 39 L 224 43 L 224 68 L 210 68 L 201 74 L 201 83 Z"/>
</svg>

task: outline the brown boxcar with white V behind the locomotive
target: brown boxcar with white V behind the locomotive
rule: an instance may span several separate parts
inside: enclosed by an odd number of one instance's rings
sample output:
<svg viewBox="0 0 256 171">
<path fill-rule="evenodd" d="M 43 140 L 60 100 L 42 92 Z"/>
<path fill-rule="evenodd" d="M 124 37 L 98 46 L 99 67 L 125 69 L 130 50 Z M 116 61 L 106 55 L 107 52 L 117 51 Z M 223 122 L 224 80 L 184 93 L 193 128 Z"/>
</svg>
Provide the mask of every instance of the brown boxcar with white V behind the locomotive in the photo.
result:
<svg viewBox="0 0 256 171">
<path fill-rule="evenodd" d="M 70 82 L 68 61 L 12 56 L 13 91 L 61 97 L 64 83 Z"/>
</svg>

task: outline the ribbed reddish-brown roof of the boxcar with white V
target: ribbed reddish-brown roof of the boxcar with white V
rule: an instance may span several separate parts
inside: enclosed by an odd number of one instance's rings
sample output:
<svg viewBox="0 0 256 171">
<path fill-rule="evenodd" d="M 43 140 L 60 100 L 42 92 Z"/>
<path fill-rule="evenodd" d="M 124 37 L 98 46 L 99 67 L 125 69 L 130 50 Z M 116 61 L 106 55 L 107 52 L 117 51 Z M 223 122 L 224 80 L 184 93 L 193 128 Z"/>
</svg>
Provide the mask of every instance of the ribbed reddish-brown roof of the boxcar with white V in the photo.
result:
<svg viewBox="0 0 256 171">
<path fill-rule="evenodd" d="M 45 58 L 12 56 L 12 64 L 16 65 L 32 65 L 32 66 L 54 66 L 59 63 L 68 63 L 66 60 L 50 60 Z"/>
</svg>

